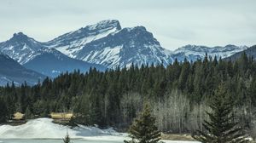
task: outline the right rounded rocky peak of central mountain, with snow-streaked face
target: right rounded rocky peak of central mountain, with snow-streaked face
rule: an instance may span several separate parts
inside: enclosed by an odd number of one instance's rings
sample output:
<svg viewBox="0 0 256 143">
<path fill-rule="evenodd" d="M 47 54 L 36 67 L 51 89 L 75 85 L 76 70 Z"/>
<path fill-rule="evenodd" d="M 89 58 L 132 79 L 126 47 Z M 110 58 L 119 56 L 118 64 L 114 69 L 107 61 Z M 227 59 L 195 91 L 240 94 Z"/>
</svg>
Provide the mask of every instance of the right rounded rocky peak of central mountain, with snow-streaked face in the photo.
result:
<svg viewBox="0 0 256 143">
<path fill-rule="evenodd" d="M 131 66 L 172 62 L 169 51 L 160 47 L 153 34 L 143 26 L 124 28 L 118 32 L 88 43 L 76 58 L 103 66 Z"/>
</svg>

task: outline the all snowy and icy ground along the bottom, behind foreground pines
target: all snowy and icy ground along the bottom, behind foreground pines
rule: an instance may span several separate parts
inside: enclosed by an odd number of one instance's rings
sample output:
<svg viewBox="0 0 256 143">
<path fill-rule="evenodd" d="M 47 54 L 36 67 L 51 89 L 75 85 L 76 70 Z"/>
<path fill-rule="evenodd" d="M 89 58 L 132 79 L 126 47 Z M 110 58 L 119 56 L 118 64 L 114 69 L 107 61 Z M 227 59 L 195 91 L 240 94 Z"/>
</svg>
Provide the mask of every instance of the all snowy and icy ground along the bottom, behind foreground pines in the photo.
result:
<svg viewBox="0 0 256 143">
<path fill-rule="evenodd" d="M 96 127 L 79 127 L 70 129 L 67 126 L 52 123 L 50 118 L 38 118 L 28 121 L 20 126 L 1 125 L 0 143 L 21 143 L 21 142 L 60 142 L 60 139 L 68 134 L 76 142 L 123 142 L 129 140 L 127 134 L 118 133 L 113 129 L 98 129 Z M 48 140 L 42 140 L 48 139 Z M 51 141 L 49 141 L 49 139 Z M 41 141 L 38 141 L 41 140 Z M 170 141 L 166 143 L 192 143 L 191 141 Z"/>
</svg>

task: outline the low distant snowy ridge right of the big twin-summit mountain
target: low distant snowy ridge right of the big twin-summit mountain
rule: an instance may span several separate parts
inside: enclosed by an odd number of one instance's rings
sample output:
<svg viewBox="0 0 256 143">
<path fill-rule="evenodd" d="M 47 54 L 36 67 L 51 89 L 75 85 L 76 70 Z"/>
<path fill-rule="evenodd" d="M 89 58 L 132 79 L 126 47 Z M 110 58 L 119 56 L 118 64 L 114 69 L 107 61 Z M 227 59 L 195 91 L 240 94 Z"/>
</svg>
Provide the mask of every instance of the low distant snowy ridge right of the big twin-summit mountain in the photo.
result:
<svg viewBox="0 0 256 143">
<path fill-rule="evenodd" d="M 206 46 L 186 45 L 173 51 L 172 57 L 177 58 L 179 61 L 183 61 L 184 58 L 187 58 L 189 61 L 195 61 L 203 59 L 207 54 L 209 57 L 214 58 L 216 56 L 219 59 L 220 57 L 229 57 L 245 49 L 247 49 L 247 46 L 226 45 L 224 47 L 218 46 L 210 48 Z"/>
</svg>

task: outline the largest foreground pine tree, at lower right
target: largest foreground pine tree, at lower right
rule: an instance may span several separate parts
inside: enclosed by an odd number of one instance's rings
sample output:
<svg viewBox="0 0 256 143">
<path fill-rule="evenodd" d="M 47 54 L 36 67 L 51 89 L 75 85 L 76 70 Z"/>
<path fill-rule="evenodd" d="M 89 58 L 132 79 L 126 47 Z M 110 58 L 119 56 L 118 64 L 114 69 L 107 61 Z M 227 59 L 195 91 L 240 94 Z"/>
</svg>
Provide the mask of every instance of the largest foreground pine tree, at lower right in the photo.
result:
<svg viewBox="0 0 256 143">
<path fill-rule="evenodd" d="M 193 137 L 202 143 L 244 142 L 242 130 L 232 114 L 234 101 L 227 98 L 230 97 L 228 91 L 221 85 L 210 104 L 212 112 L 207 112 L 210 120 L 203 123 L 206 130 L 197 130 Z"/>
</svg>

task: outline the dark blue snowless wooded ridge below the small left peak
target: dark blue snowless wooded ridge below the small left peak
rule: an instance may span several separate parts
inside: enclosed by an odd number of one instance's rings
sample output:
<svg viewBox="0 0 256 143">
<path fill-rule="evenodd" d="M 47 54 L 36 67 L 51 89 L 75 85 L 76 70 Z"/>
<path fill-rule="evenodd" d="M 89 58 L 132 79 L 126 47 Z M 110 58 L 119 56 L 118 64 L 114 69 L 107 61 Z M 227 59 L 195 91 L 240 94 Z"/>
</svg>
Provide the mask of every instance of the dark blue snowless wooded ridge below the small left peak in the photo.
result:
<svg viewBox="0 0 256 143">
<path fill-rule="evenodd" d="M 57 77 L 61 72 L 73 72 L 74 70 L 87 72 L 90 67 L 96 67 L 100 71 L 106 70 L 104 66 L 69 58 L 55 49 L 41 49 L 38 53 L 35 58 L 26 62 L 23 66 L 49 77 Z"/>
</svg>

